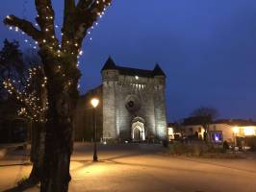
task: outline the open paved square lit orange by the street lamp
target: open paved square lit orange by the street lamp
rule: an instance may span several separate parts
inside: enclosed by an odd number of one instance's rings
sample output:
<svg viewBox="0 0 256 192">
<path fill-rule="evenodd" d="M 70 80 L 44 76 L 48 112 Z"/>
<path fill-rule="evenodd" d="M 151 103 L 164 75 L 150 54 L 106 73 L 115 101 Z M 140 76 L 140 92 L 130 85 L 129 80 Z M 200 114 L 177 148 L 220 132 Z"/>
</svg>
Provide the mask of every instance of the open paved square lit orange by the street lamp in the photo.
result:
<svg viewBox="0 0 256 192">
<path fill-rule="evenodd" d="M 76 145 L 69 191 L 256 192 L 255 155 L 244 159 L 173 157 L 164 155 L 158 145 L 122 145 L 101 146 L 98 157 L 99 162 L 91 162 L 92 148 Z M 0 191 L 12 187 L 30 169 L 28 165 L 0 166 Z"/>
</svg>

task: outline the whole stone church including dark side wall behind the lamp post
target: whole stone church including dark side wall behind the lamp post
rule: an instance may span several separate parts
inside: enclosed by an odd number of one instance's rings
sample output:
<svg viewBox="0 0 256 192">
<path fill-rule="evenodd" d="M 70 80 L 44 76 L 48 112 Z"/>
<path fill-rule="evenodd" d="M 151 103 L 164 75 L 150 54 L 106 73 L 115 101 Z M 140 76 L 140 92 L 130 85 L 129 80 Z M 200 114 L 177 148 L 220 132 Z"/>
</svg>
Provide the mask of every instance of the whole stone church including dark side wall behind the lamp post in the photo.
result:
<svg viewBox="0 0 256 192">
<path fill-rule="evenodd" d="M 153 70 L 128 68 L 109 58 L 101 70 L 102 84 L 82 96 L 74 118 L 76 140 L 91 140 L 97 97 L 97 137 L 102 140 L 144 141 L 166 139 L 166 75 Z"/>
</svg>

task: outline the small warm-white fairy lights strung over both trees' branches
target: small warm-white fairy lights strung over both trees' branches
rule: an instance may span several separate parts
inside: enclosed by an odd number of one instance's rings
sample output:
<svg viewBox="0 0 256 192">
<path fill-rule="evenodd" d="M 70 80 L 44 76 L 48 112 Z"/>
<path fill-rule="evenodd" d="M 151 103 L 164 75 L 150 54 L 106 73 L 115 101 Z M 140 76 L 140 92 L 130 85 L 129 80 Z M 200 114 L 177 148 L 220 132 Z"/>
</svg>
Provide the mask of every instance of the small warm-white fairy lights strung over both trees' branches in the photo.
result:
<svg viewBox="0 0 256 192">
<path fill-rule="evenodd" d="M 102 2 L 105 3 L 106 1 L 105 0 L 96 0 L 97 5 L 101 4 Z M 109 3 L 108 6 L 110 6 L 110 5 L 111 4 Z M 105 7 L 103 9 L 101 8 L 98 12 L 96 12 L 98 18 L 102 18 L 103 15 L 106 14 L 108 6 L 105 5 Z M 46 9 L 51 9 L 51 8 L 46 7 Z M 47 10 L 47 12 L 48 12 L 48 10 Z M 38 18 L 40 16 L 42 17 L 42 15 L 38 15 Z M 7 15 L 6 17 L 7 17 L 7 19 L 12 19 L 12 16 L 10 16 L 10 15 Z M 41 18 L 41 19 L 44 19 L 44 20 L 45 19 L 47 19 L 47 20 L 54 19 L 54 16 L 43 15 L 43 18 Z M 38 27 L 39 25 L 38 25 L 38 23 L 34 23 L 34 26 Z M 90 27 L 90 29 L 87 29 L 88 32 L 87 32 L 86 37 L 88 37 L 88 39 L 90 41 L 92 40 L 91 35 L 93 34 L 93 30 L 96 28 L 96 26 L 98 26 L 98 22 L 94 22 L 93 25 Z M 58 58 L 64 57 L 64 54 L 68 53 L 68 54 L 74 55 L 74 57 L 77 57 L 77 60 L 79 60 L 81 58 L 81 56 L 83 56 L 83 51 L 81 50 L 81 47 L 82 47 L 81 42 L 66 40 L 65 43 L 66 43 L 66 45 L 68 45 L 68 48 L 65 46 L 62 46 L 65 44 L 62 44 L 63 42 L 61 44 L 59 44 L 58 35 L 57 36 L 47 35 L 47 34 L 49 34 L 49 32 L 52 32 L 52 30 L 57 31 L 57 29 L 60 28 L 59 25 L 53 25 L 52 27 L 53 27 L 53 29 L 51 27 L 44 29 L 44 33 L 46 34 L 44 39 L 39 39 L 38 41 L 30 42 L 31 38 L 26 38 L 24 40 L 24 42 L 28 43 L 28 45 L 30 47 L 32 47 L 33 49 L 38 49 L 38 47 L 39 48 L 44 47 L 48 51 L 50 51 L 55 57 L 58 57 Z M 22 32 L 18 27 L 13 28 L 12 26 L 10 26 L 9 29 L 13 30 L 14 32 L 17 32 L 17 33 L 20 32 L 22 35 L 25 35 L 25 33 Z M 64 36 L 64 33 L 62 31 L 59 31 L 59 33 L 61 34 L 61 36 Z M 69 47 L 71 49 L 69 49 Z M 80 61 L 77 61 L 76 67 L 79 67 L 79 65 L 80 65 Z M 58 74 L 62 75 L 63 77 L 69 77 L 69 74 L 64 73 L 64 71 L 66 69 L 65 68 L 62 69 L 60 64 L 55 63 L 55 67 L 56 67 L 55 70 L 56 70 L 56 72 L 58 72 Z M 27 84 L 24 86 L 25 89 L 32 88 L 31 79 L 33 79 L 33 77 L 35 75 L 37 75 L 37 69 L 34 69 L 34 68 L 31 69 L 29 74 L 30 74 L 29 79 L 26 81 Z M 15 85 L 14 85 L 14 83 L 12 83 L 12 84 L 9 83 L 9 84 L 6 84 L 6 86 L 9 88 L 10 94 L 17 95 L 16 96 L 17 100 L 19 100 L 21 102 L 26 102 L 28 104 L 28 106 L 30 106 L 31 108 L 35 108 L 36 110 L 38 110 L 38 114 L 41 111 L 45 111 L 45 108 L 40 108 L 40 106 L 37 105 L 37 101 L 39 102 L 39 98 L 36 97 L 36 93 L 26 93 L 23 91 L 21 91 L 21 92 L 15 91 Z M 71 85 L 72 82 L 68 81 L 68 82 L 65 82 L 65 84 Z M 41 88 L 46 88 L 46 85 L 47 85 L 47 79 L 43 79 L 43 81 L 40 84 Z M 80 88 L 79 83 L 78 83 L 77 87 Z M 37 118 L 38 118 L 38 116 L 40 116 L 37 113 L 35 113 L 34 115 L 29 114 L 30 112 L 26 108 L 22 108 L 22 109 L 20 108 L 20 112 L 27 113 L 27 115 L 31 116 L 32 118 L 34 118 L 33 116 L 35 116 L 35 115 L 37 116 Z M 38 121 L 40 121 L 40 120 L 38 119 Z"/>
</svg>

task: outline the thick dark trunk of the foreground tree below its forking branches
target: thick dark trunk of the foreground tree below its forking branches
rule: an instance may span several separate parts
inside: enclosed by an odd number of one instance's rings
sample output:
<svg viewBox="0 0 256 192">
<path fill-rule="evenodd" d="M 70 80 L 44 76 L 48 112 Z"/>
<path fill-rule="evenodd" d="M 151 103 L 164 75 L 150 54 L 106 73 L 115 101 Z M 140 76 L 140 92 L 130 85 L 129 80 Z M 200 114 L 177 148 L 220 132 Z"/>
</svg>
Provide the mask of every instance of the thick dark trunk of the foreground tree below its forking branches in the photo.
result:
<svg viewBox="0 0 256 192">
<path fill-rule="evenodd" d="M 67 192 L 71 180 L 69 174 L 70 156 L 73 149 L 72 114 L 78 99 L 77 68 L 73 60 L 61 60 L 62 67 L 69 66 L 65 73 L 52 68 L 52 60 L 41 57 L 48 77 L 48 113 L 45 136 L 44 173 L 41 192 Z M 71 62 L 71 63 L 70 63 Z M 74 62 L 76 63 L 76 62 Z M 72 71 L 73 70 L 73 71 Z M 70 74 L 68 74 L 70 73 Z M 65 74 L 65 75 L 64 75 Z M 72 79 L 71 79 L 72 78 Z M 73 80 L 73 84 L 68 84 Z"/>
</svg>

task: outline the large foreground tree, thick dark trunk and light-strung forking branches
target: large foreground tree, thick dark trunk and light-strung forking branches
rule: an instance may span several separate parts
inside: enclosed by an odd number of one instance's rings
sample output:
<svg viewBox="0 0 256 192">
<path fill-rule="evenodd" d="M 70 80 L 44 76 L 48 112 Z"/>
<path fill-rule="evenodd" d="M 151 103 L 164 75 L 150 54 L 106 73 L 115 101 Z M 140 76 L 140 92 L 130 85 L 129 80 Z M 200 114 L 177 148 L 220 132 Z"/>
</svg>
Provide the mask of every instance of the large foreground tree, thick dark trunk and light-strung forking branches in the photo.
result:
<svg viewBox="0 0 256 192">
<path fill-rule="evenodd" d="M 55 33 L 55 12 L 51 0 L 35 0 L 38 27 L 32 22 L 8 15 L 4 23 L 19 28 L 38 43 L 47 84 L 47 110 L 44 172 L 40 191 L 65 192 L 71 179 L 73 111 L 79 97 L 80 71 L 77 57 L 83 39 L 111 0 L 64 0 L 62 39 Z"/>
</svg>

